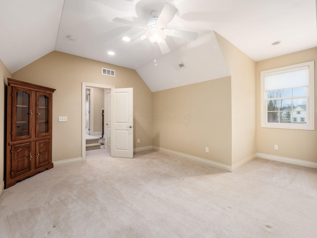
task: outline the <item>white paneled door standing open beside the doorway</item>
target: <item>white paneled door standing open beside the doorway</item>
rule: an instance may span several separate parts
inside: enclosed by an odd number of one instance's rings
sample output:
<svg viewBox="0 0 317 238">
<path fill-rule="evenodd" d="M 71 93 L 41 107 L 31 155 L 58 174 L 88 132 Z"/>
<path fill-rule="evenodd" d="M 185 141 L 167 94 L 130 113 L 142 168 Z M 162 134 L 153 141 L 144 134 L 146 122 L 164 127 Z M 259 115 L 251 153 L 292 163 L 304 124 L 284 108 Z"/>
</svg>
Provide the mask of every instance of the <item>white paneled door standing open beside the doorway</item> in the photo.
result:
<svg viewBox="0 0 317 238">
<path fill-rule="evenodd" d="M 111 89 L 111 156 L 133 158 L 133 88 Z"/>
</svg>

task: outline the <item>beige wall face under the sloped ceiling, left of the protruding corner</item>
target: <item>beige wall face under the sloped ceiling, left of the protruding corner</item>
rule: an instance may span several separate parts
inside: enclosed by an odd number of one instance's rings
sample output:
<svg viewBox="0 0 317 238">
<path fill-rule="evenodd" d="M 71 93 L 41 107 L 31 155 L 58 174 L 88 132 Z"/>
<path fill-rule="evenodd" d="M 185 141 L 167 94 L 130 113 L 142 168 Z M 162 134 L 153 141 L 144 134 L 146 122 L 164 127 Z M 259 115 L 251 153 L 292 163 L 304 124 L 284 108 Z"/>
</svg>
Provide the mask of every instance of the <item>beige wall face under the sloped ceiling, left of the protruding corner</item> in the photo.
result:
<svg viewBox="0 0 317 238">
<path fill-rule="evenodd" d="M 153 93 L 153 145 L 231 165 L 230 87 L 225 77 Z"/>
</svg>

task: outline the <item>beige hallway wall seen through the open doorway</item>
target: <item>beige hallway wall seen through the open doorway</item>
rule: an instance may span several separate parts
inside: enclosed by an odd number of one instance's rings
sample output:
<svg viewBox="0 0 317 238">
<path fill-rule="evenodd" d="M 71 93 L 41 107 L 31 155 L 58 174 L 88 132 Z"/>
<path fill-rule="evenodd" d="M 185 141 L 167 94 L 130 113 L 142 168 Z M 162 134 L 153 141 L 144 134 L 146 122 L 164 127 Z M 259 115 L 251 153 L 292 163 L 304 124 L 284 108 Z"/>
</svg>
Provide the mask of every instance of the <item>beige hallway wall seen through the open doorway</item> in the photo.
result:
<svg viewBox="0 0 317 238">
<path fill-rule="evenodd" d="M 94 88 L 94 134 L 102 131 L 102 110 L 104 109 L 104 89 Z"/>
</svg>

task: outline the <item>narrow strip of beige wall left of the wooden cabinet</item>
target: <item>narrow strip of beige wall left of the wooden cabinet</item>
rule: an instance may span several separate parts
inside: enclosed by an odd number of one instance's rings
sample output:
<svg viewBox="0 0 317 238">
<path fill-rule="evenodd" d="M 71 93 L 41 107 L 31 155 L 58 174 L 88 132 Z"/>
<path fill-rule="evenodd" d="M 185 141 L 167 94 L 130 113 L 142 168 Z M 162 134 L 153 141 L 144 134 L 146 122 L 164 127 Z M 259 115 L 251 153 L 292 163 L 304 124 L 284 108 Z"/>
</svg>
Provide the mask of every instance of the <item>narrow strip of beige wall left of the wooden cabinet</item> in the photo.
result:
<svg viewBox="0 0 317 238">
<path fill-rule="evenodd" d="M 4 151 L 6 148 L 4 147 L 4 137 L 6 137 L 5 133 L 5 124 L 6 121 L 4 119 L 4 108 L 6 107 L 4 105 L 6 99 L 5 99 L 5 84 L 7 84 L 7 78 L 11 77 L 11 73 L 9 70 L 4 66 L 2 61 L 0 60 L 0 195 L 1 195 L 1 186 L 3 186 L 4 182 Z"/>
</svg>

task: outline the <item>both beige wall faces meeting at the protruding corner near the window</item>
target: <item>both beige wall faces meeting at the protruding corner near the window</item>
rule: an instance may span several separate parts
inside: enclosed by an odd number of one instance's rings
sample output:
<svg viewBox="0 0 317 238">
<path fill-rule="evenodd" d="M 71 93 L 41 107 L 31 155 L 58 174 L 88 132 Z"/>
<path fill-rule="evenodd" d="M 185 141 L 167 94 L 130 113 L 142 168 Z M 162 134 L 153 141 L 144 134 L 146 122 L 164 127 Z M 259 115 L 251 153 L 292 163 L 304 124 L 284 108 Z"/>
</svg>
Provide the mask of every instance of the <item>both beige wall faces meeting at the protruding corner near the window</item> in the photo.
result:
<svg viewBox="0 0 317 238">
<path fill-rule="evenodd" d="M 256 62 L 215 35 L 231 77 L 153 93 L 153 145 L 234 166 L 257 153 Z"/>
</svg>

